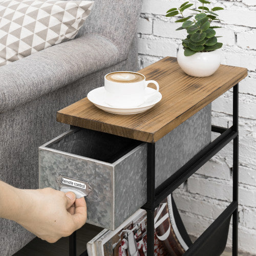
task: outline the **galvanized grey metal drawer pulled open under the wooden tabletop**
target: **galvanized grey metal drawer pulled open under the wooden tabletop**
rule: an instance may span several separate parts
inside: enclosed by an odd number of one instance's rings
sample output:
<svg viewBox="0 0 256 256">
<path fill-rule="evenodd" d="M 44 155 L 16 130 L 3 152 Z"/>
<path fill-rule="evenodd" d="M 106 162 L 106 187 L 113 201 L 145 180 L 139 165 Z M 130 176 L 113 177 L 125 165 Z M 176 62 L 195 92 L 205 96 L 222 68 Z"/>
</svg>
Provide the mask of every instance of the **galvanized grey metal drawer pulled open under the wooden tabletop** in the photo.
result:
<svg viewBox="0 0 256 256">
<path fill-rule="evenodd" d="M 156 186 L 210 142 L 208 105 L 156 142 Z M 146 143 L 87 129 L 39 147 L 39 187 L 60 175 L 86 181 L 88 223 L 115 229 L 146 203 Z"/>
</svg>

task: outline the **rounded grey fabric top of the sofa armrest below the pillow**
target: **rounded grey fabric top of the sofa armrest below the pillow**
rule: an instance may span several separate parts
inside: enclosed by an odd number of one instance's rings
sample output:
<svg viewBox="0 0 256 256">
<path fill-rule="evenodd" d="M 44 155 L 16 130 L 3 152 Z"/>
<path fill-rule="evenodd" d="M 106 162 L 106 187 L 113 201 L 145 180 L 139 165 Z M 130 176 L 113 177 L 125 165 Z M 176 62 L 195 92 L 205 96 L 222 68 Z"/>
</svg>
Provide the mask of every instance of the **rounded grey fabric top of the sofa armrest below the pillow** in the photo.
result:
<svg viewBox="0 0 256 256">
<path fill-rule="evenodd" d="M 0 67 L 0 113 L 117 63 L 108 39 L 87 34 Z"/>
</svg>

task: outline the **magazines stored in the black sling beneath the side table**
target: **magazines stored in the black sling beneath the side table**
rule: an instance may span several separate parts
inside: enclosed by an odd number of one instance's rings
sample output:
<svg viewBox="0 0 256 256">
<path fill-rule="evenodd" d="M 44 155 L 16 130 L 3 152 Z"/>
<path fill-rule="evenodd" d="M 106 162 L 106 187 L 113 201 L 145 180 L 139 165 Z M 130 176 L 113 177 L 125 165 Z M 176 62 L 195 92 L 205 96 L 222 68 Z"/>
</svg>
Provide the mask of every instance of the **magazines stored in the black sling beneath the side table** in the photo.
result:
<svg viewBox="0 0 256 256">
<path fill-rule="evenodd" d="M 123 225 L 97 240 L 97 256 L 146 255 L 146 211 L 138 210 Z M 191 245 L 171 195 L 155 210 L 155 255 L 179 256 Z"/>
</svg>

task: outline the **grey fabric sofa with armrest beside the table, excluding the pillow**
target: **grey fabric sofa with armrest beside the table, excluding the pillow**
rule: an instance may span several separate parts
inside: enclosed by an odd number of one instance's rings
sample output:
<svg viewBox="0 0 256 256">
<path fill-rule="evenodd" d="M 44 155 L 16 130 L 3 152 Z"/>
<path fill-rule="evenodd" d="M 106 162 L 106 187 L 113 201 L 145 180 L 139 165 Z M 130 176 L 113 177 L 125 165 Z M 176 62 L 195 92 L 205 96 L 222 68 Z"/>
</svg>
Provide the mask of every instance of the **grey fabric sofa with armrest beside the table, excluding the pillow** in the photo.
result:
<svg viewBox="0 0 256 256">
<path fill-rule="evenodd" d="M 56 111 L 103 86 L 104 74 L 137 71 L 136 23 L 142 0 L 95 0 L 76 39 L 0 67 L 0 179 L 38 187 L 38 146 L 69 129 Z M 0 219 L 0 254 L 34 235 Z"/>
</svg>

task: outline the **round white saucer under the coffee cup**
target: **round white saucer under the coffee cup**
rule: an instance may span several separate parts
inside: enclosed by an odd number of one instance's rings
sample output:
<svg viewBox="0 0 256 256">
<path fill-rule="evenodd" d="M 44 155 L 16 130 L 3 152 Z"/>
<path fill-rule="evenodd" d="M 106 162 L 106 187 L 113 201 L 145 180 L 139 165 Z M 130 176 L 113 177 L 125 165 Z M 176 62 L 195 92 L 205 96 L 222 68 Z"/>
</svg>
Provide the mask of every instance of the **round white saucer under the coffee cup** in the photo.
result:
<svg viewBox="0 0 256 256">
<path fill-rule="evenodd" d="M 151 109 L 156 103 L 158 103 L 162 99 L 162 94 L 160 92 L 156 93 L 155 89 L 147 87 L 145 90 L 145 96 L 148 97 L 147 100 L 137 106 L 136 108 L 118 108 L 111 106 L 105 102 L 105 89 L 104 87 L 96 88 L 88 93 L 87 98 L 95 105 L 97 108 L 104 110 L 105 112 L 119 115 L 131 115 L 138 114 L 144 112 L 146 110 Z"/>
</svg>

